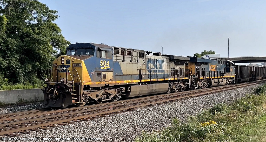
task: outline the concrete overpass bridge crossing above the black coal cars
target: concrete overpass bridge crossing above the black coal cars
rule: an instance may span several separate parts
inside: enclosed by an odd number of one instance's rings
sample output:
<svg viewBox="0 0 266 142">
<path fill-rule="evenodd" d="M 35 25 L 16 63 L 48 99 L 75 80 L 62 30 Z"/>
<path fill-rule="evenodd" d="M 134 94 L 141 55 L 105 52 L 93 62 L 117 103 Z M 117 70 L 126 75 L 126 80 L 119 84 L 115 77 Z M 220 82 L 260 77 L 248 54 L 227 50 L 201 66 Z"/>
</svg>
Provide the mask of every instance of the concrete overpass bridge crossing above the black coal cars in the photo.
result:
<svg viewBox="0 0 266 142">
<path fill-rule="evenodd" d="M 234 63 L 265 63 L 266 62 L 266 56 L 247 56 L 247 57 L 221 57 L 221 58 L 211 58 L 211 59 L 224 59 L 224 60 L 230 60 Z"/>
</svg>

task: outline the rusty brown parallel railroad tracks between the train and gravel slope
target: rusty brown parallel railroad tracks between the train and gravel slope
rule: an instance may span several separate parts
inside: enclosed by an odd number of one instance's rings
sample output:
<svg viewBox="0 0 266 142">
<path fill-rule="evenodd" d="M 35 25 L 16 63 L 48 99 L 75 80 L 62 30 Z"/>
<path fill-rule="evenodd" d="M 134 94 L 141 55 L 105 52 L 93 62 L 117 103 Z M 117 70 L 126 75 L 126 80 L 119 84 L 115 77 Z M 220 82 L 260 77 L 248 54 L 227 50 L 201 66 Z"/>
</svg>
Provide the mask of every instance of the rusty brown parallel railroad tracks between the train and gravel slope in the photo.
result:
<svg viewBox="0 0 266 142">
<path fill-rule="evenodd" d="M 251 83 L 221 86 L 215 88 L 205 88 L 190 90 L 186 92 L 160 94 L 141 98 L 132 98 L 104 104 L 95 104 L 81 107 L 73 107 L 59 110 L 35 109 L 5 113 L 0 115 L 0 135 L 18 136 L 16 132 L 27 134 L 31 131 L 49 129 L 49 127 L 59 127 L 80 121 L 86 121 L 99 117 L 106 117 L 126 111 L 145 108 L 148 106 L 164 104 L 167 102 L 197 97 L 205 94 L 222 92 L 234 88 L 263 83 L 265 80 Z"/>
</svg>

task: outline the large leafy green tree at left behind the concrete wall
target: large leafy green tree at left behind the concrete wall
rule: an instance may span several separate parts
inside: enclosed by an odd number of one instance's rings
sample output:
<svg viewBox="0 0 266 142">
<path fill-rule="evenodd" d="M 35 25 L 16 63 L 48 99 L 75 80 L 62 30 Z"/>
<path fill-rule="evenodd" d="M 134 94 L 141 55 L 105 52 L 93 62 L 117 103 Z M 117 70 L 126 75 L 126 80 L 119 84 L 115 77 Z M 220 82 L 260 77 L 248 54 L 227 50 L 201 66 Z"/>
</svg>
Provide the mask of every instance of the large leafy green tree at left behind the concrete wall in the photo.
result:
<svg viewBox="0 0 266 142">
<path fill-rule="evenodd" d="M 57 51 L 70 44 L 53 23 L 58 15 L 37 0 L 0 0 L 0 76 L 35 83 Z"/>
</svg>

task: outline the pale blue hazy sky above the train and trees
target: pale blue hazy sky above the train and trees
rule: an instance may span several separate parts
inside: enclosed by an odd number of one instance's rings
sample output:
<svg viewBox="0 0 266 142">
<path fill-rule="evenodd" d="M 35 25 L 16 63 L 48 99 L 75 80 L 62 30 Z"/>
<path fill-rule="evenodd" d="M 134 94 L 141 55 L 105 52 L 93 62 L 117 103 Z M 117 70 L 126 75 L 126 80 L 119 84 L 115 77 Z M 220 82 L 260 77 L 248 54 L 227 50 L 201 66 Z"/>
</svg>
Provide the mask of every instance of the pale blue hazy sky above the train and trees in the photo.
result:
<svg viewBox="0 0 266 142">
<path fill-rule="evenodd" d="M 72 44 L 103 43 L 193 56 L 266 55 L 265 0 L 40 0 Z"/>
</svg>

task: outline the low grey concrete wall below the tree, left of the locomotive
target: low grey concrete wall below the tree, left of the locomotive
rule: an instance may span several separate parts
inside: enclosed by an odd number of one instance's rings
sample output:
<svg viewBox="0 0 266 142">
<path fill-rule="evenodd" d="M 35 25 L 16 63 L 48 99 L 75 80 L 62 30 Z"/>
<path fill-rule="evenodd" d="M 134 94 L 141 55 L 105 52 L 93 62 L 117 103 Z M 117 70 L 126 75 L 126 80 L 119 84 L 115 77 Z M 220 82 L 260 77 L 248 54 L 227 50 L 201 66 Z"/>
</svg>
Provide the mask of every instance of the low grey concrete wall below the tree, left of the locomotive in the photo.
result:
<svg viewBox="0 0 266 142">
<path fill-rule="evenodd" d="M 41 89 L 18 89 L 0 91 L 1 104 L 15 104 L 43 100 Z"/>
</svg>

